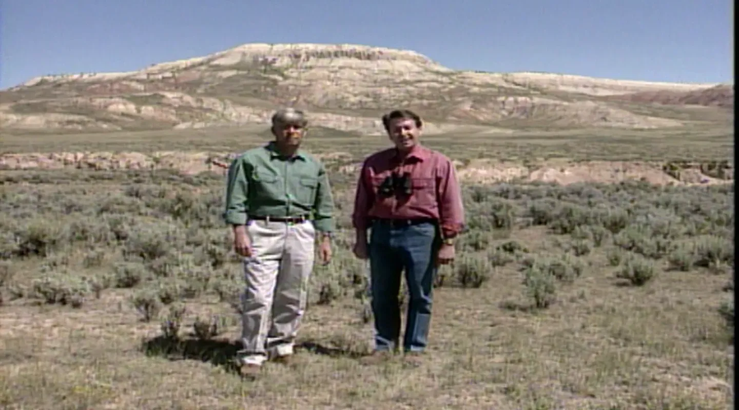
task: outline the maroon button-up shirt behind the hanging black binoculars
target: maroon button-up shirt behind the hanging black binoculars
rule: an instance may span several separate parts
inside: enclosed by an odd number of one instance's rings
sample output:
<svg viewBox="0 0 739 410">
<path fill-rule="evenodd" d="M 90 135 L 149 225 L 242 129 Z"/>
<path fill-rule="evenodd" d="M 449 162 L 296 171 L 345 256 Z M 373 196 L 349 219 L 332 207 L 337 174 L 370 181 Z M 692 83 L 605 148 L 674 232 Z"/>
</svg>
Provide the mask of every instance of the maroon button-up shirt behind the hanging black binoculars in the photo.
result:
<svg viewBox="0 0 739 410">
<path fill-rule="evenodd" d="M 378 195 L 378 188 L 393 172 L 410 173 L 412 194 L 408 197 Z M 464 208 L 454 164 L 442 153 L 416 146 L 402 159 L 390 148 L 369 156 L 362 165 L 354 202 L 355 229 L 369 228 L 372 218 L 439 221 L 444 237 L 462 230 Z"/>
</svg>

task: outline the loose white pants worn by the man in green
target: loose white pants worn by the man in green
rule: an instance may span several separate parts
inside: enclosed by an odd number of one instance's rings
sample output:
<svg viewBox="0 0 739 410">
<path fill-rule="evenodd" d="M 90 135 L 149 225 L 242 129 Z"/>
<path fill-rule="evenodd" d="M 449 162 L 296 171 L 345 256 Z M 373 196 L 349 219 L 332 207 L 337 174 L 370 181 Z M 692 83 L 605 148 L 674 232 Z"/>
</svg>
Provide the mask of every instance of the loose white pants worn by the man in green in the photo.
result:
<svg viewBox="0 0 739 410">
<path fill-rule="evenodd" d="M 262 364 L 268 355 L 293 353 L 313 271 L 316 229 L 310 221 L 251 220 L 247 232 L 252 256 L 244 259 L 243 350 L 239 360 Z"/>
</svg>

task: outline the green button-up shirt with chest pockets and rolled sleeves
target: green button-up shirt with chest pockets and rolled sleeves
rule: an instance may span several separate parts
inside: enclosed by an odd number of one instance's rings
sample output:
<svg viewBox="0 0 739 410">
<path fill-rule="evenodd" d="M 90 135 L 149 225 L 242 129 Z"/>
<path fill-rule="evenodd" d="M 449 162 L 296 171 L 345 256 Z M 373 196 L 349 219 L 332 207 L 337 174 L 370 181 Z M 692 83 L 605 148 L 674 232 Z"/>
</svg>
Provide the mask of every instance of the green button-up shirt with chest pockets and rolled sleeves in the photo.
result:
<svg viewBox="0 0 739 410">
<path fill-rule="evenodd" d="M 247 215 L 313 219 L 333 231 L 333 198 L 324 164 L 302 150 L 282 156 L 274 142 L 242 153 L 228 168 L 223 219 L 244 225 Z"/>
</svg>

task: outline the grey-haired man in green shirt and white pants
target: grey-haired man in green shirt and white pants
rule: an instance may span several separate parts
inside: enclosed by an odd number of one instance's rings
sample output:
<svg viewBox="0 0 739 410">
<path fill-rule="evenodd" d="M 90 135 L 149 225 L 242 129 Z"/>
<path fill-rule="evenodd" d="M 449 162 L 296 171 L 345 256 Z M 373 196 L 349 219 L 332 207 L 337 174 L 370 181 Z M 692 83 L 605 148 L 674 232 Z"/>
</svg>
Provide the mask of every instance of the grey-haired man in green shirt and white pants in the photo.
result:
<svg viewBox="0 0 739 410">
<path fill-rule="evenodd" d="M 247 150 L 228 168 L 223 218 L 244 257 L 238 359 L 245 376 L 256 376 L 268 357 L 283 363 L 292 357 L 316 236 L 319 260 L 331 259 L 333 198 L 324 165 L 299 148 L 306 130 L 302 111 L 279 110 L 272 117 L 275 140 Z"/>
</svg>

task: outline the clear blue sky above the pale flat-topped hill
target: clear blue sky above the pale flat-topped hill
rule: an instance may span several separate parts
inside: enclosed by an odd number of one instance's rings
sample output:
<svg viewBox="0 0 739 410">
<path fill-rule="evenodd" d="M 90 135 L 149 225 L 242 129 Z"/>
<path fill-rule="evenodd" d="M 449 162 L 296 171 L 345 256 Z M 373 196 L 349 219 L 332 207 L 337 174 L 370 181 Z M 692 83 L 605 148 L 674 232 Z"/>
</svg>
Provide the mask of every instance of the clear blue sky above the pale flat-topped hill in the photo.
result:
<svg viewBox="0 0 739 410">
<path fill-rule="evenodd" d="M 454 69 L 733 79 L 729 0 L 0 0 L 0 88 L 239 44 L 413 49 Z"/>
</svg>

